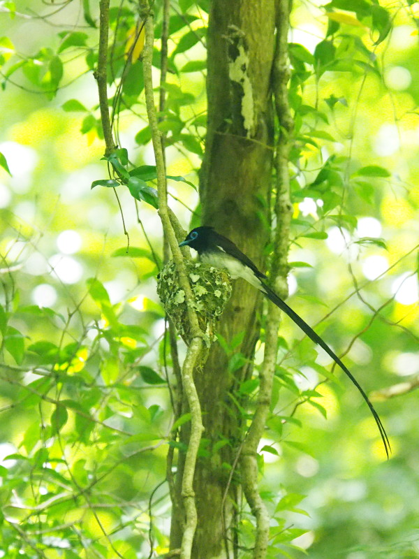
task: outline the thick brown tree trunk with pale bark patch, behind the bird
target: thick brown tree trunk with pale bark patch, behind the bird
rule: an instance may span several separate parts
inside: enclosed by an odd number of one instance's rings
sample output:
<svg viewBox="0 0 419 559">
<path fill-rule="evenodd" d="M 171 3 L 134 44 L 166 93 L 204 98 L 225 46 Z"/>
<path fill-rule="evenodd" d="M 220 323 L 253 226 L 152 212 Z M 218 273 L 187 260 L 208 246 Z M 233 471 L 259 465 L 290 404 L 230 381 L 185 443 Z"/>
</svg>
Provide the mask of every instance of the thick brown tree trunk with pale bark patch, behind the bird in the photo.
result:
<svg viewBox="0 0 419 559">
<path fill-rule="evenodd" d="M 233 240 L 262 269 L 272 184 L 274 32 L 274 0 L 212 1 L 207 38 L 208 129 L 200 175 L 203 225 L 214 226 Z M 250 360 L 258 339 L 259 303 L 258 291 L 237 280 L 219 324 L 227 342 L 244 333 L 235 351 Z M 224 493 L 243 437 L 242 414 L 234 393 L 250 375 L 251 365 L 228 370 L 228 356 L 218 342 L 213 344 L 202 372 L 195 375 L 208 456 L 200 458 L 196 467 L 194 559 L 226 556 L 226 546 L 230 547 L 226 542 L 233 538 L 226 528 L 232 528 L 239 491 L 237 474 L 226 500 Z M 223 441 L 228 444 L 222 446 Z M 181 477 L 179 460 L 177 480 Z M 173 518 L 171 549 L 180 546 L 181 538 L 180 519 Z"/>
</svg>

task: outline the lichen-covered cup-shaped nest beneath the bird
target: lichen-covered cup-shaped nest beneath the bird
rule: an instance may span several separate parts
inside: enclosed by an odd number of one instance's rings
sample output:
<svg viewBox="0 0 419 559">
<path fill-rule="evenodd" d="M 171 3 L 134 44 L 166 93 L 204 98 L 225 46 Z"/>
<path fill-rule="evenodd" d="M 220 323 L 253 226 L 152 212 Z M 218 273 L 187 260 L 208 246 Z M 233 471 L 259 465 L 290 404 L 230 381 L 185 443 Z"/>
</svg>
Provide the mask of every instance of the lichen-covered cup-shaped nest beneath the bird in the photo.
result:
<svg viewBox="0 0 419 559">
<path fill-rule="evenodd" d="M 198 315 L 200 328 L 210 344 L 215 339 L 216 322 L 231 295 L 230 276 L 207 264 L 185 261 L 186 273 L 191 280 L 194 300 L 191 306 Z M 184 290 L 179 286 L 175 263 L 170 261 L 161 270 L 157 293 L 166 312 L 186 343 L 191 341 Z"/>
</svg>

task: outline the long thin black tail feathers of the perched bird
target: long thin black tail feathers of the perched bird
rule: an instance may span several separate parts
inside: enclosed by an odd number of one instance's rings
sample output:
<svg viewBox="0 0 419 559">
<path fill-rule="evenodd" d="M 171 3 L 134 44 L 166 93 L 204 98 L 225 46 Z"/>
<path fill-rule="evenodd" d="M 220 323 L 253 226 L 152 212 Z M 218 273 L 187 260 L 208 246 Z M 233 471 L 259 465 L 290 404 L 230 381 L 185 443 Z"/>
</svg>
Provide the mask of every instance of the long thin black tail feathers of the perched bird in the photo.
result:
<svg viewBox="0 0 419 559">
<path fill-rule="evenodd" d="M 367 394 L 364 392 L 364 390 L 360 386 L 358 380 L 355 379 L 355 377 L 352 375 L 351 371 L 348 370 L 346 365 L 344 365 L 344 363 L 342 363 L 342 361 L 335 354 L 335 352 L 332 351 L 332 349 L 330 349 L 328 344 L 326 344 L 322 340 L 322 338 L 318 334 L 316 334 L 316 332 L 313 330 L 313 328 L 311 328 L 311 326 L 309 326 L 306 321 L 304 321 L 295 311 L 293 311 L 293 309 L 291 309 L 291 307 L 288 307 L 288 305 L 285 303 L 285 301 L 283 301 L 281 298 L 279 298 L 279 296 L 277 296 L 277 293 L 272 291 L 272 289 L 270 289 L 270 287 L 268 287 L 262 281 L 260 282 L 260 284 L 262 286 L 261 291 L 263 291 L 265 293 L 267 298 L 269 300 L 271 300 L 272 303 L 274 303 L 274 305 L 277 305 L 277 307 L 279 307 L 282 311 L 284 311 L 286 314 L 288 314 L 288 317 L 290 317 L 295 322 L 295 324 L 297 324 L 297 326 L 300 326 L 300 328 L 302 329 L 304 334 L 307 334 L 307 336 L 310 338 L 310 340 L 312 340 L 314 343 L 316 343 L 320 347 L 322 347 L 325 350 L 325 352 L 328 355 L 330 355 L 330 357 L 333 359 L 333 361 L 335 361 L 337 363 L 337 365 L 339 365 L 341 370 L 343 370 L 346 373 L 346 375 L 348 375 L 348 377 L 351 379 L 353 384 L 355 384 L 357 389 L 360 391 L 360 393 L 362 395 L 362 398 L 364 398 L 365 402 L 367 402 L 367 405 L 368 405 L 369 409 L 371 410 L 372 415 L 374 416 L 375 422 L 377 424 L 378 430 L 379 430 L 380 435 L 381 435 L 381 439 L 383 440 L 385 453 L 387 454 L 387 458 L 389 458 L 389 453 L 391 451 L 391 448 L 390 448 L 390 442 L 388 441 L 387 433 L 385 433 L 385 429 L 383 427 L 383 423 L 381 423 L 380 417 L 378 416 L 378 414 L 377 414 L 376 410 L 374 409 L 374 406 L 372 405 L 372 403 L 369 401 L 369 398 L 368 398 Z"/>
</svg>

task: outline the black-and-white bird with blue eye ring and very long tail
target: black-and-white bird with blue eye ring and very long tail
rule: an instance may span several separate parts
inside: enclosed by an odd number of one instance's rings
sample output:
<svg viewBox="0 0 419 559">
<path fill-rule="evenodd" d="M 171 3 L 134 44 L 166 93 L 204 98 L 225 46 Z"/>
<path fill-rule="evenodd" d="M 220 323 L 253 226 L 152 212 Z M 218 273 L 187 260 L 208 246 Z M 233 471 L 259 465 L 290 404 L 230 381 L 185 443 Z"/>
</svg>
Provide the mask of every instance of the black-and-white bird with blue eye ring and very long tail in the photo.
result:
<svg viewBox="0 0 419 559">
<path fill-rule="evenodd" d="M 211 226 L 200 226 L 192 229 L 190 233 L 186 236 L 185 240 L 179 243 L 179 247 L 191 247 L 198 252 L 198 256 L 201 262 L 209 264 L 214 268 L 223 268 L 227 270 L 228 274 L 232 279 L 237 279 L 242 277 L 249 284 L 256 287 L 262 291 L 262 293 L 270 300 L 274 305 L 277 305 L 281 311 L 288 314 L 291 318 L 301 328 L 301 330 L 306 334 L 311 341 L 318 344 L 324 351 L 339 365 L 341 370 L 343 370 L 346 375 L 351 379 L 351 382 L 355 384 L 356 388 L 364 398 L 365 402 L 369 407 L 372 416 L 375 419 L 378 431 L 381 435 L 381 440 L 383 441 L 385 453 L 387 458 L 389 458 L 391 447 L 388 440 L 387 433 L 381 423 L 381 419 L 378 416 L 374 406 L 370 402 L 367 394 L 362 389 L 358 380 L 355 379 L 350 370 L 342 363 L 341 359 L 335 354 L 328 344 L 321 338 L 314 330 L 307 324 L 299 314 L 297 314 L 291 307 L 289 307 L 284 300 L 282 300 L 277 293 L 275 293 L 270 286 L 267 285 L 267 276 L 260 272 L 256 265 L 249 259 L 246 254 L 244 254 L 233 241 L 220 235 Z"/>
</svg>

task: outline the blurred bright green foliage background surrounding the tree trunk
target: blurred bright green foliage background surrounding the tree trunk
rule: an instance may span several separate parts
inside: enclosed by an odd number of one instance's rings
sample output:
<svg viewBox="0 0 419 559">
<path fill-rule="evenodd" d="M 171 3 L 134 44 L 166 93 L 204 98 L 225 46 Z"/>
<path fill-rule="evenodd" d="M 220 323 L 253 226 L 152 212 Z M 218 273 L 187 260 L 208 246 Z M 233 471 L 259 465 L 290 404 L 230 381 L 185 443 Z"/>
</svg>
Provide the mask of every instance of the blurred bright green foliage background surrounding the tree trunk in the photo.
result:
<svg viewBox="0 0 419 559">
<path fill-rule="evenodd" d="M 161 1 L 154 10 L 157 79 Z M 179 0 L 170 14 L 159 126 L 186 229 L 199 218 L 208 10 Z M 147 557 L 150 534 L 164 553 L 172 363 L 142 66 L 126 64 L 135 3 L 110 10 L 111 161 L 92 75 L 96 3 L 1 1 L 0 14 L 0 556 Z M 412 1 L 291 13 L 291 304 L 367 392 L 419 375 L 417 18 Z M 270 557 L 417 557 L 416 393 L 376 396 L 385 462 L 353 386 L 339 371 L 330 382 L 330 361 L 286 320 L 281 336 L 260 450 Z M 235 370 L 237 340 L 220 343 Z M 263 331 L 256 363 L 262 351 Z M 243 393 L 256 394 L 257 369 Z M 253 518 L 241 513 L 246 549 Z"/>
</svg>

